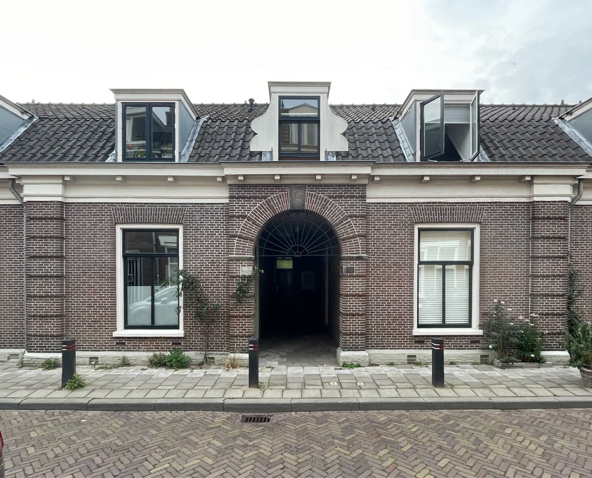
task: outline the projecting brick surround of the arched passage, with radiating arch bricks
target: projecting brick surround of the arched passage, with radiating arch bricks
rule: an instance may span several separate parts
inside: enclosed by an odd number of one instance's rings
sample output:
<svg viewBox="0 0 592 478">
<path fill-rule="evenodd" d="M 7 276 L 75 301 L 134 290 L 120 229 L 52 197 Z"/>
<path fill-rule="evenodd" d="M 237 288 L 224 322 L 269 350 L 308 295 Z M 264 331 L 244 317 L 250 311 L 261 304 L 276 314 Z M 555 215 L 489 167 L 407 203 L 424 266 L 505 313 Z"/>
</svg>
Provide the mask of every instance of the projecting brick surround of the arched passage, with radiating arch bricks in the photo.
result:
<svg viewBox="0 0 592 478">
<path fill-rule="evenodd" d="M 278 188 L 279 189 L 279 188 Z M 240 196 L 237 196 L 237 201 Z M 232 196 L 231 196 L 232 201 Z M 359 204 L 358 204 L 359 203 Z M 255 264 L 255 247 L 259 234 L 276 215 L 291 209 L 314 212 L 332 227 L 341 251 L 339 279 L 339 346 L 342 350 L 366 348 L 366 256 L 365 256 L 365 201 L 358 201 L 355 213 L 346 211 L 328 195 L 307 189 L 303 204 L 294 207 L 290 203 L 288 188 L 284 186 L 265 199 L 243 209 L 240 221 L 231 226 L 231 256 L 229 276 L 231 288 L 236 288 L 242 267 Z M 304 207 L 303 207 L 304 206 Z M 237 209 L 238 206 L 237 206 Z M 354 209 L 353 207 L 350 209 Z M 347 269 L 346 269 L 347 267 Z M 247 338 L 255 328 L 254 301 L 236 305 L 231 303 L 231 350 L 244 350 Z"/>
</svg>

